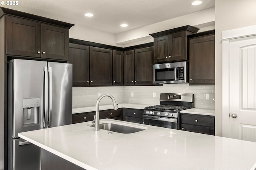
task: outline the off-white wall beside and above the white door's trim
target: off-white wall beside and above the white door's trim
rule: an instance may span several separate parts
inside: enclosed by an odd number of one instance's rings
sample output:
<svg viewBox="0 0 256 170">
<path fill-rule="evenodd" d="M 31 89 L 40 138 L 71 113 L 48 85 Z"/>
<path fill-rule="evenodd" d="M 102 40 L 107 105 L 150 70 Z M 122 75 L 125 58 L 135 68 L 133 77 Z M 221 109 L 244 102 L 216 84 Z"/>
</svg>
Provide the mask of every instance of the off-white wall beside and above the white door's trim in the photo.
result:
<svg viewBox="0 0 256 170">
<path fill-rule="evenodd" d="M 222 31 L 256 25 L 256 0 L 215 0 L 215 134 L 222 136 Z"/>
</svg>

